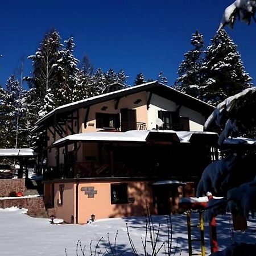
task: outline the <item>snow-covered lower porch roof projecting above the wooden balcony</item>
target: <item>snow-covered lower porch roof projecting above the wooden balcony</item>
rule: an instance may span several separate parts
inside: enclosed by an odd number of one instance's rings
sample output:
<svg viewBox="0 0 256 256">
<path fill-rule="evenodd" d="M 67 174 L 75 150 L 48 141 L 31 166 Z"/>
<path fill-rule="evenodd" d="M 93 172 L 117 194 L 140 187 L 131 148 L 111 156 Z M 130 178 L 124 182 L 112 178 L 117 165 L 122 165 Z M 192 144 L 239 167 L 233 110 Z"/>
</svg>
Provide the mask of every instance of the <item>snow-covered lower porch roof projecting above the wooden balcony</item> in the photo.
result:
<svg viewBox="0 0 256 256">
<path fill-rule="evenodd" d="M 151 135 L 166 135 L 167 139 L 172 142 L 189 143 L 195 135 L 201 135 L 204 137 L 216 136 L 216 142 L 218 139 L 217 133 L 204 132 L 204 131 L 172 131 L 172 130 L 131 130 L 125 133 L 111 131 L 95 131 L 92 133 L 79 133 L 68 135 L 53 143 L 53 146 L 59 144 L 72 142 L 72 141 L 113 141 L 113 142 L 146 142 L 151 139 Z M 171 135 L 171 136 L 170 136 Z"/>
</svg>

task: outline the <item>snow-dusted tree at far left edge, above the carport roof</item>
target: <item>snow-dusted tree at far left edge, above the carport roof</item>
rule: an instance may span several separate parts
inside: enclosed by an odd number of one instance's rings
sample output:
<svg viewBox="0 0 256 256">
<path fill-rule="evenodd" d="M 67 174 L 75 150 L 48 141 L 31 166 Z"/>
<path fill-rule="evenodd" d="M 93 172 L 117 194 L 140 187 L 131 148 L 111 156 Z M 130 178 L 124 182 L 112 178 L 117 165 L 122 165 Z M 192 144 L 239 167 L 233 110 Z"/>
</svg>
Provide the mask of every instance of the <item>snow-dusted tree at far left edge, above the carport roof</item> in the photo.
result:
<svg viewBox="0 0 256 256">
<path fill-rule="evenodd" d="M 5 86 L 5 89 L 0 89 L 0 147 L 27 147 L 27 109 L 24 101 L 26 92 L 14 75 L 7 79 Z"/>
</svg>

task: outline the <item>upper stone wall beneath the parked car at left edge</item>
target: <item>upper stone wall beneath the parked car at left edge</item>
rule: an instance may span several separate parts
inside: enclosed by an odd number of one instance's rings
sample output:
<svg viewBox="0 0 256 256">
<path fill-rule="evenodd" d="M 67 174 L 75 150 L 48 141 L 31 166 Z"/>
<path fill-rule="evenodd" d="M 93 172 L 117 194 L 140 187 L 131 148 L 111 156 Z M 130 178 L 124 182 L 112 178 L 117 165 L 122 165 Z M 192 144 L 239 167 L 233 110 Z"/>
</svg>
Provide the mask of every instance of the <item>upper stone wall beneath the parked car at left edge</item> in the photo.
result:
<svg viewBox="0 0 256 256">
<path fill-rule="evenodd" d="M 10 196 L 11 192 L 26 191 L 25 179 L 0 179 L 0 197 Z"/>
</svg>

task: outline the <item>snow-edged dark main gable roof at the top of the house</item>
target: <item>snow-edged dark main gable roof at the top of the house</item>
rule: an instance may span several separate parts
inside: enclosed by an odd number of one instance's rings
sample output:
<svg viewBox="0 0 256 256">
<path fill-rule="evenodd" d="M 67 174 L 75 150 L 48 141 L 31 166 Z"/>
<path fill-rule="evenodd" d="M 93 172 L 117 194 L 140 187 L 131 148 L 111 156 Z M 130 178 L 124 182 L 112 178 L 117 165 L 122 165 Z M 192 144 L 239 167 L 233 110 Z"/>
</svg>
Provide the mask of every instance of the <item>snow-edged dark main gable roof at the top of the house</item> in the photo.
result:
<svg viewBox="0 0 256 256">
<path fill-rule="evenodd" d="M 200 111 L 207 109 L 208 112 L 212 112 L 214 109 L 214 107 L 212 105 L 207 104 L 206 102 L 201 101 L 192 96 L 189 96 L 188 94 L 180 92 L 180 91 L 172 88 L 171 86 L 164 85 L 158 81 L 152 81 L 152 82 L 147 82 L 145 84 L 130 86 L 125 89 L 115 90 L 114 92 L 97 95 L 94 97 L 86 98 L 84 100 L 75 101 L 75 102 L 71 102 L 69 104 L 65 104 L 63 106 L 59 106 L 58 108 L 52 110 L 48 114 L 44 115 L 44 117 L 39 119 L 39 121 L 36 122 L 36 126 L 35 126 L 34 130 L 37 130 L 38 127 L 40 125 L 42 125 L 42 123 L 44 123 L 47 119 L 52 117 L 54 114 L 69 112 L 69 111 L 72 111 L 75 109 L 83 108 L 85 106 L 97 104 L 99 102 L 104 102 L 104 101 L 108 101 L 108 100 L 113 100 L 114 98 L 117 98 L 117 97 L 123 97 L 123 96 L 129 95 L 129 94 L 142 92 L 143 90 L 149 90 L 149 89 L 154 89 L 154 93 L 156 93 L 156 94 L 159 93 L 160 90 L 164 90 L 164 92 L 162 92 L 162 94 L 166 98 L 169 97 L 168 94 L 175 94 L 175 95 L 173 95 L 173 97 L 176 98 L 176 100 L 177 100 L 177 98 L 186 99 L 187 104 L 189 104 L 189 102 L 190 102 L 191 108 L 196 108 L 197 104 L 199 104 L 200 106 L 198 106 L 197 109 Z"/>
</svg>

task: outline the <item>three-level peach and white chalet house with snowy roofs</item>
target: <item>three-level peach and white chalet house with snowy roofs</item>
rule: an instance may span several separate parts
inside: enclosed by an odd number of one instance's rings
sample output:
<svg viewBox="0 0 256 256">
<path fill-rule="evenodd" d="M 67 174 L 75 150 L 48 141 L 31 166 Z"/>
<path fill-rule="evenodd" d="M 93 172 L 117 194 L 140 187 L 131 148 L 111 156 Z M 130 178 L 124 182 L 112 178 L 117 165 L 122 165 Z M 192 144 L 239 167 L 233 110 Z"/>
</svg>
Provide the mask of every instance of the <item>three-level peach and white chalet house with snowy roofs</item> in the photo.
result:
<svg viewBox="0 0 256 256">
<path fill-rule="evenodd" d="M 60 106 L 40 119 L 47 130 L 44 200 L 65 222 L 177 209 L 216 157 L 204 132 L 214 107 L 159 82 Z M 190 195 L 192 195 L 190 194 Z"/>
</svg>

